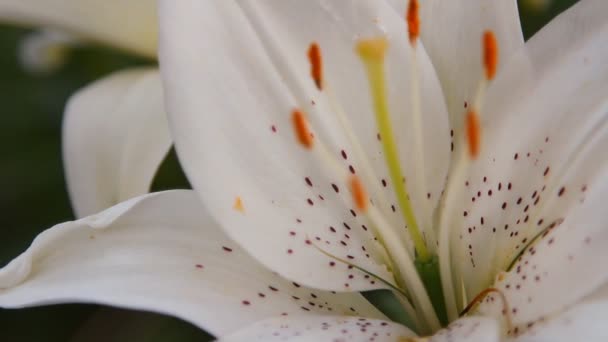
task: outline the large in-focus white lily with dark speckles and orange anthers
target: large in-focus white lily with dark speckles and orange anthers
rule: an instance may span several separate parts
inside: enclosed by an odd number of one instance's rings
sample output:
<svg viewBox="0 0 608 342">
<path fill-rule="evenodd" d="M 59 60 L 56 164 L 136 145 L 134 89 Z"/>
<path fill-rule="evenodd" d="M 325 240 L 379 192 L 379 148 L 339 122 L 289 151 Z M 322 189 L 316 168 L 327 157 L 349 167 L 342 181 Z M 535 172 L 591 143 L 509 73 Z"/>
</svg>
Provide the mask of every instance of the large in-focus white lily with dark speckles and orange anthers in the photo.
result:
<svg viewBox="0 0 608 342">
<path fill-rule="evenodd" d="M 203 205 L 158 193 L 53 227 L 0 270 L 1 306 L 141 308 L 226 340 L 413 338 L 354 292 L 387 288 L 433 341 L 608 336 L 606 2 L 525 46 L 506 1 L 427 0 L 418 43 L 384 2 L 159 4 Z"/>
</svg>

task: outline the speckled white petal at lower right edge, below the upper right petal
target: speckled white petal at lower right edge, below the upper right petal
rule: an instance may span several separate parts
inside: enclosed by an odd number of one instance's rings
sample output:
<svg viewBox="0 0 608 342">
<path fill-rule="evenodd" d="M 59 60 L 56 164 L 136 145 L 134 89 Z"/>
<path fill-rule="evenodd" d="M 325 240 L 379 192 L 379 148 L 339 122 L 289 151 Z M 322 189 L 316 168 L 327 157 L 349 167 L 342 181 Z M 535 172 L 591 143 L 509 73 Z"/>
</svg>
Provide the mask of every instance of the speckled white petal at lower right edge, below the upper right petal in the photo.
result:
<svg viewBox="0 0 608 342">
<path fill-rule="evenodd" d="M 604 177 L 588 185 L 580 197 L 583 204 L 528 247 L 513 270 L 494 285 L 505 295 L 516 326 L 564 310 L 608 283 L 607 172 L 605 167 Z M 495 315 L 502 309 L 498 297 L 481 307 Z"/>
</svg>

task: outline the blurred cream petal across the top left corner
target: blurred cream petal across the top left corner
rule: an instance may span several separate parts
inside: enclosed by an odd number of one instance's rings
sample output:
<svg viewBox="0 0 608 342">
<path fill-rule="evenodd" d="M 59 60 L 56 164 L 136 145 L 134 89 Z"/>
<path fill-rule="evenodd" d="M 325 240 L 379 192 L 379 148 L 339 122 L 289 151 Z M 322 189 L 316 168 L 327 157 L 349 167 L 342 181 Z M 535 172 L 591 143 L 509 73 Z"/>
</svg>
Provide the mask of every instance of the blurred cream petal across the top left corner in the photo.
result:
<svg viewBox="0 0 608 342">
<path fill-rule="evenodd" d="M 0 20 L 55 27 L 83 38 L 156 57 L 154 0 L 0 0 Z"/>
</svg>

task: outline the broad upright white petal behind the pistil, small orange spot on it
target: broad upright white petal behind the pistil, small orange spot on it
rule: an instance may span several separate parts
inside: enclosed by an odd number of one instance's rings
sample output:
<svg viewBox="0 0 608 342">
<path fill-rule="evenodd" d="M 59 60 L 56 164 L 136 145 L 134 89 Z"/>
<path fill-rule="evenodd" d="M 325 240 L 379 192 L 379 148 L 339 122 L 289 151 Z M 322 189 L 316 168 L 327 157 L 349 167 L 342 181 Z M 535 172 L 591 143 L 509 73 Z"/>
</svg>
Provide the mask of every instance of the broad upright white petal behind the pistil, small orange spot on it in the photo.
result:
<svg viewBox="0 0 608 342">
<path fill-rule="evenodd" d="M 388 172 L 371 128 L 375 124 L 368 86 L 352 52 L 353 39 L 388 36 L 388 59 L 395 62 L 391 70 L 399 75 L 390 80 L 395 95 L 391 99 L 399 113 L 405 113 L 407 96 L 397 95 L 409 89 L 402 66 L 411 51 L 402 20 L 383 3 L 369 1 L 160 4 L 161 71 L 176 149 L 212 215 L 253 256 L 288 278 L 334 290 L 384 286 L 322 249 L 391 281 L 384 251 L 366 218 L 354 210 L 348 192 L 345 174 L 349 165 L 354 165 L 351 172 L 360 169 L 357 157 L 328 104 L 331 99 L 318 93 L 308 76 L 306 50 L 312 41 L 324 49 L 327 82 L 336 86 L 335 102 L 348 113 L 370 163 L 376 171 L 383 170 L 377 173 L 381 178 Z M 420 59 L 426 61 L 422 53 Z M 428 127 L 437 130 L 425 139 L 434 138 L 445 147 L 432 153 L 431 147 L 437 146 L 430 143 L 424 153 L 432 159 L 427 163 L 430 182 L 446 172 L 447 159 L 441 156 L 449 153 L 449 142 L 441 116 L 445 108 L 441 101 L 431 101 L 440 93 L 439 85 L 428 61 L 421 68 L 422 87 L 429 90 L 423 103 L 432 109 Z M 321 147 L 309 151 L 297 144 L 291 123 L 294 108 L 308 112 L 315 139 L 328 146 L 330 157 Z M 407 121 L 405 114 L 401 121 Z M 333 158 L 340 171 L 319 155 Z M 411 163 L 408 170 L 415 170 Z M 380 184 L 379 179 L 375 182 Z M 439 189 L 441 182 L 433 186 Z M 388 220 L 402 227 L 399 215 L 389 213 Z"/>
</svg>

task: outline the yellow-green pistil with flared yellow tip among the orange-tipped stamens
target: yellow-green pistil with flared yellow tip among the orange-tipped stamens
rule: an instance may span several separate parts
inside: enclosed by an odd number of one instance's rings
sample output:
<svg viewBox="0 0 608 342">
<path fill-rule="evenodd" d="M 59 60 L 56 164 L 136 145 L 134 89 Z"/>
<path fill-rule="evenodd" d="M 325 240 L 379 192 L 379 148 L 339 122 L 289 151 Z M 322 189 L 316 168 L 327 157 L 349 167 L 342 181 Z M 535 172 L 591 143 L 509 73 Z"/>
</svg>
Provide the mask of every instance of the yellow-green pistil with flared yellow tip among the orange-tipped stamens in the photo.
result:
<svg viewBox="0 0 608 342">
<path fill-rule="evenodd" d="M 414 211 L 409 200 L 406 184 L 403 181 L 403 172 L 397 151 L 397 144 L 393 135 L 390 113 L 388 110 L 388 99 L 386 92 L 386 80 L 384 78 L 384 56 L 388 48 L 388 41 L 385 38 L 366 39 L 357 43 L 356 50 L 367 67 L 367 75 L 371 87 L 372 98 L 374 100 L 374 111 L 378 130 L 382 136 L 382 147 L 386 164 L 391 176 L 392 184 L 399 201 L 399 208 L 403 215 L 410 236 L 414 242 L 416 252 L 420 261 L 430 260 L 430 254 L 426 244 L 422 239 Z"/>
</svg>

